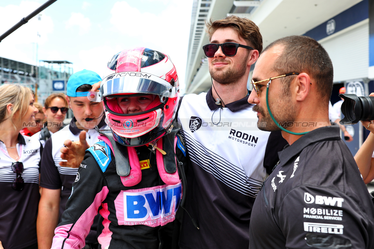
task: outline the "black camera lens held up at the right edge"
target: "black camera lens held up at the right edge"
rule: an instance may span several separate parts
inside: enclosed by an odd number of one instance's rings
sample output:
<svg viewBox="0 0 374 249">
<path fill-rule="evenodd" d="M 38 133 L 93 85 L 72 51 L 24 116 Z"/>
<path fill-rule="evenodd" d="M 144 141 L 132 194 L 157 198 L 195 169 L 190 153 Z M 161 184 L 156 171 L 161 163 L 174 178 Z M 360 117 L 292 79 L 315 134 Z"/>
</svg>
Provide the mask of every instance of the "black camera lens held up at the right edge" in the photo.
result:
<svg viewBox="0 0 374 249">
<path fill-rule="evenodd" d="M 341 104 L 341 113 L 344 118 L 340 124 L 357 124 L 358 121 L 374 119 L 374 97 L 359 97 L 356 94 L 339 94 L 344 99 Z"/>
</svg>

